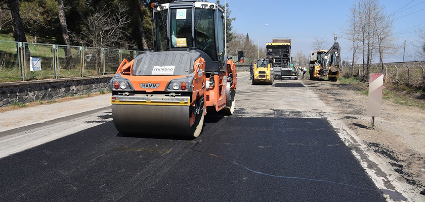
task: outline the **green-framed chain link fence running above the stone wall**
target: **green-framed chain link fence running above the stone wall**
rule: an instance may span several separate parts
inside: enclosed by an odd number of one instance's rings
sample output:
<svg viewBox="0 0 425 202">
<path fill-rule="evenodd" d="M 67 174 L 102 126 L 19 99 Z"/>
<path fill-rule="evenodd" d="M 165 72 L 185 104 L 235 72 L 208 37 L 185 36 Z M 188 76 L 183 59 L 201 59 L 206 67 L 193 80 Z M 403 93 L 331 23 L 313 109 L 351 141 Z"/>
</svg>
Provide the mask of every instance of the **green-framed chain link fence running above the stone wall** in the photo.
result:
<svg viewBox="0 0 425 202">
<path fill-rule="evenodd" d="M 114 74 L 143 51 L 0 40 L 0 82 Z"/>
</svg>

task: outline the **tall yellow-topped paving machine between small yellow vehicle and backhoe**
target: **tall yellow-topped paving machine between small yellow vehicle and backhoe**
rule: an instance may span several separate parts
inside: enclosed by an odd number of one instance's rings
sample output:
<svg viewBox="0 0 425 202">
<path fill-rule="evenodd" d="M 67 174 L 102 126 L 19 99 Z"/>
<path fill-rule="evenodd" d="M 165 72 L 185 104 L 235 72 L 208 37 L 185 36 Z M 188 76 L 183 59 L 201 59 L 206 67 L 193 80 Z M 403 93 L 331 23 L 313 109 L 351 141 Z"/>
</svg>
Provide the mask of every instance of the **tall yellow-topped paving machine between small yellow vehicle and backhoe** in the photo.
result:
<svg viewBox="0 0 425 202">
<path fill-rule="evenodd" d="M 274 37 L 271 43 L 266 43 L 267 58 L 272 64 L 274 78 L 297 78 L 292 75 L 291 38 Z"/>
</svg>

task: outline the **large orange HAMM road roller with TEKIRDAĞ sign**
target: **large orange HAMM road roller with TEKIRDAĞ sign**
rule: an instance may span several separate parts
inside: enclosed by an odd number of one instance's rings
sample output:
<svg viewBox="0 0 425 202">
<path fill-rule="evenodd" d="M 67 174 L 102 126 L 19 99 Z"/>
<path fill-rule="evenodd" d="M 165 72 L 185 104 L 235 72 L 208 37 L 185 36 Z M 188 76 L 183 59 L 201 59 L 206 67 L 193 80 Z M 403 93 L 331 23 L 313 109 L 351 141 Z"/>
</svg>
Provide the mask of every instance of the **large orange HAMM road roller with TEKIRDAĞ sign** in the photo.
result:
<svg viewBox="0 0 425 202">
<path fill-rule="evenodd" d="M 122 134 L 197 137 L 207 108 L 235 110 L 237 74 L 225 55 L 224 9 L 196 1 L 151 7 L 153 50 L 124 60 L 110 80 L 113 123 Z"/>
</svg>

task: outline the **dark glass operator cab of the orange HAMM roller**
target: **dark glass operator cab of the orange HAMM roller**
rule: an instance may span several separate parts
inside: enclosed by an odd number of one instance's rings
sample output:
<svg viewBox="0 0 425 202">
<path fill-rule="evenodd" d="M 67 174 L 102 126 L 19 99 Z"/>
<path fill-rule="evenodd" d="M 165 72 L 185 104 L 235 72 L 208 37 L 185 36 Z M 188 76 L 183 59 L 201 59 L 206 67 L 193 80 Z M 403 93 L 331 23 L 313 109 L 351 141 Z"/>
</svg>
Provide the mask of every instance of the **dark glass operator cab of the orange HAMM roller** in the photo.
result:
<svg viewBox="0 0 425 202">
<path fill-rule="evenodd" d="M 154 3 L 152 7 L 155 52 L 196 48 L 205 60 L 206 72 L 226 71 L 223 8 L 196 1 Z"/>
</svg>

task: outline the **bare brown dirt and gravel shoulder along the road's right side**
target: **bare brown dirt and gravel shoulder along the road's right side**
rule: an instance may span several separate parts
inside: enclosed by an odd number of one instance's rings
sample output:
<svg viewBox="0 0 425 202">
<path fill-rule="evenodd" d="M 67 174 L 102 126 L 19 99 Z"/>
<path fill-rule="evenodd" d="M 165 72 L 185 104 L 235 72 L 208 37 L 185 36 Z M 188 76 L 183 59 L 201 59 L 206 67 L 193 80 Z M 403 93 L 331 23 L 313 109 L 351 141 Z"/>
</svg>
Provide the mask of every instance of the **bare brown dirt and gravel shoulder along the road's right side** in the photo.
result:
<svg viewBox="0 0 425 202">
<path fill-rule="evenodd" d="M 403 106 L 391 99 L 382 100 L 381 117 L 366 116 L 367 88 L 358 84 L 303 80 L 306 87 L 344 121 L 361 140 L 388 162 L 399 178 L 420 190 L 425 188 L 425 110 L 416 106 Z M 404 178 L 404 179 L 403 179 Z M 423 191 L 425 192 L 425 190 Z"/>
</svg>

